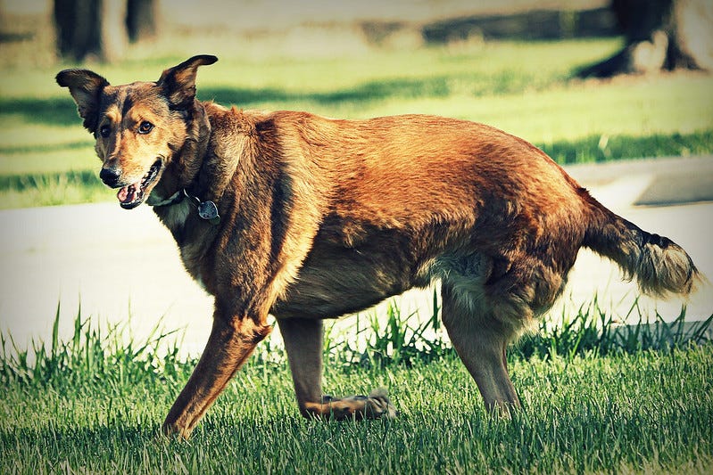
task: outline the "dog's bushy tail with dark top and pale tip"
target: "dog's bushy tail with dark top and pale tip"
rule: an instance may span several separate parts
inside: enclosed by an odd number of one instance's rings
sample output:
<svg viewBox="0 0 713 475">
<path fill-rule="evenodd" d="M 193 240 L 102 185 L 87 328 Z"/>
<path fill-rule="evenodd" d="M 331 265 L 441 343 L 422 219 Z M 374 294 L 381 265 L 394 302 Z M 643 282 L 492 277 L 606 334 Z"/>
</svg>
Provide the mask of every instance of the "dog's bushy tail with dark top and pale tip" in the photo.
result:
<svg viewBox="0 0 713 475">
<path fill-rule="evenodd" d="M 704 278 L 691 256 L 667 237 L 643 231 L 587 196 L 589 222 L 584 246 L 612 259 L 643 293 L 687 296 Z"/>
</svg>

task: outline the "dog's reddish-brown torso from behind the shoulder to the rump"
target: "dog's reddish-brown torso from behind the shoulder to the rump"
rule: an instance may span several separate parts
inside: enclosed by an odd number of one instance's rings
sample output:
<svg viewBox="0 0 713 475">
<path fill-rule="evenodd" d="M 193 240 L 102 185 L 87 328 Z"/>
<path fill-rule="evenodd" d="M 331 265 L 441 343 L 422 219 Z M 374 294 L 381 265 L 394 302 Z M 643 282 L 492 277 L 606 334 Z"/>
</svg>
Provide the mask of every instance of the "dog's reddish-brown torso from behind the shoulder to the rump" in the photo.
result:
<svg viewBox="0 0 713 475">
<path fill-rule="evenodd" d="M 321 197 L 311 252 L 278 315 L 321 303 L 318 315 L 338 316 L 434 277 L 472 276 L 494 289 L 520 265 L 522 279 L 540 282 L 535 308 L 559 293 L 586 231 L 586 192 L 531 144 L 430 116 L 278 112 L 268 122 L 286 176 L 304 176 L 301 186 Z"/>
</svg>

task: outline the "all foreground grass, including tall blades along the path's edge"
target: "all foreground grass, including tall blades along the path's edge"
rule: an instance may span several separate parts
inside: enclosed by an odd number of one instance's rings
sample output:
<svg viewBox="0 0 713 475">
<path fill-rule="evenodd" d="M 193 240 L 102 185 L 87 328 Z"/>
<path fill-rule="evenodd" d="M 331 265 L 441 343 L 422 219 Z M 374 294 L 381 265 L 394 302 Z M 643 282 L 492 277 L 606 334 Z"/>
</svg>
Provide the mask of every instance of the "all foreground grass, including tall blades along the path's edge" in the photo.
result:
<svg viewBox="0 0 713 475">
<path fill-rule="evenodd" d="M 437 315 L 437 301 L 434 311 Z M 401 411 L 395 421 L 303 420 L 285 355 L 268 342 L 188 442 L 159 436 L 162 418 L 195 364 L 178 356 L 179 335 L 157 329 L 136 342 L 123 338 L 120 326 L 101 332 L 81 314 L 66 342 L 57 338 L 59 316 L 52 340 L 36 341 L 29 350 L 13 348 L 4 335 L 0 471 L 708 473 L 713 468 L 713 344 L 684 342 L 683 314 L 679 322 L 659 323 L 656 331 L 639 325 L 624 333 L 635 338 L 617 336 L 596 301 L 569 321 L 543 325 L 536 338 L 510 352 L 510 373 L 523 402 L 512 420 L 485 412 L 474 382 L 443 340 L 435 339 L 437 355 L 433 348 L 417 350 L 424 327 L 394 306 L 385 316 L 380 329 L 373 328 L 376 317 L 366 315 L 368 331 L 327 333 L 324 385 L 336 395 L 387 388 Z M 425 324 L 438 333 L 435 322 Z M 702 323 L 699 337 L 709 325 Z M 354 339 L 361 339 L 367 357 L 354 354 Z"/>
</svg>

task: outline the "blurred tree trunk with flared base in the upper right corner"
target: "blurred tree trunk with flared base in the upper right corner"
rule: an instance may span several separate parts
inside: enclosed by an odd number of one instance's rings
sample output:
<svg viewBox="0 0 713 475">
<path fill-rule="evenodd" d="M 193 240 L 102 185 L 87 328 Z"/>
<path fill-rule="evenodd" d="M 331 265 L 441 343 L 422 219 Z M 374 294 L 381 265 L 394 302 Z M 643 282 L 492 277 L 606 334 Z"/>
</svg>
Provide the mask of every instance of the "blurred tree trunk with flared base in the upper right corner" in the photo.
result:
<svg viewBox="0 0 713 475">
<path fill-rule="evenodd" d="M 713 71 L 713 2 L 612 0 L 626 44 L 612 57 L 579 71 L 609 78 L 658 70 Z"/>
</svg>

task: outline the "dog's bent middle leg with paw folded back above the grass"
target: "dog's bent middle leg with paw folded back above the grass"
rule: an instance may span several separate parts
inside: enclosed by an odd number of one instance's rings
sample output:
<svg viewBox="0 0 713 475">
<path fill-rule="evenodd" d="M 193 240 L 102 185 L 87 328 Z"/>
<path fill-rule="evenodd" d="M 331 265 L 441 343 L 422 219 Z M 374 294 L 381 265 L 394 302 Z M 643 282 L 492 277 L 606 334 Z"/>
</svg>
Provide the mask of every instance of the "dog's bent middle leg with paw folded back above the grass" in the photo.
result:
<svg viewBox="0 0 713 475">
<path fill-rule="evenodd" d="M 336 420 L 395 417 L 394 405 L 383 390 L 372 391 L 369 396 L 322 396 L 321 320 L 285 318 L 278 319 L 278 326 L 285 340 L 294 393 L 303 416 Z"/>
</svg>

